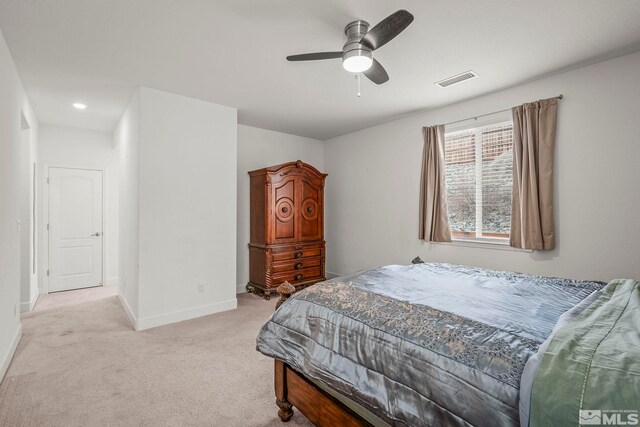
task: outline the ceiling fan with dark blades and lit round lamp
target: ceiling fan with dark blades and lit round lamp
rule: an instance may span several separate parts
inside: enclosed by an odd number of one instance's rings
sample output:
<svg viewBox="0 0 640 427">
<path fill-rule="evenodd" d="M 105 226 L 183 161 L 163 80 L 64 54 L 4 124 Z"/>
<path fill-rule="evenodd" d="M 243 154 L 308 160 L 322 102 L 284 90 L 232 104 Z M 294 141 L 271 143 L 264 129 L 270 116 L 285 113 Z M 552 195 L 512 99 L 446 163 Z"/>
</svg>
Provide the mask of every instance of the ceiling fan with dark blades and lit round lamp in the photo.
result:
<svg viewBox="0 0 640 427">
<path fill-rule="evenodd" d="M 375 84 L 389 80 L 384 67 L 373 58 L 373 51 L 384 46 L 400 34 L 411 22 L 413 15 L 399 10 L 383 19 L 369 31 L 366 21 L 353 21 L 344 28 L 347 42 L 342 51 L 303 53 L 287 56 L 287 61 L 316 61 L 342 58 L 342 66 L 352 73 L 363 73 Z"/>
</svg>

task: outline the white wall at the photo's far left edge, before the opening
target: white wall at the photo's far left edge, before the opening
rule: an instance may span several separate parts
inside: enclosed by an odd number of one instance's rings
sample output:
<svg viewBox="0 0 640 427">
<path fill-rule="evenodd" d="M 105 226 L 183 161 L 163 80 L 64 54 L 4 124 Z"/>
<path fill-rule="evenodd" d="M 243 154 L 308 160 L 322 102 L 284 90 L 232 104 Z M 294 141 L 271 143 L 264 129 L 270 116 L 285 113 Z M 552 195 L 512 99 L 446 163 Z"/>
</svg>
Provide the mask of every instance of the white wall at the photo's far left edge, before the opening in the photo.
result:
<svg viewBox="0 0 640 427">
<path fill-rule="evenodd" d="M 20 145 L 21 112 L 37 135 L 37 120 L 0 32 L 0 380 L 21 337 Z"/>
</svg>

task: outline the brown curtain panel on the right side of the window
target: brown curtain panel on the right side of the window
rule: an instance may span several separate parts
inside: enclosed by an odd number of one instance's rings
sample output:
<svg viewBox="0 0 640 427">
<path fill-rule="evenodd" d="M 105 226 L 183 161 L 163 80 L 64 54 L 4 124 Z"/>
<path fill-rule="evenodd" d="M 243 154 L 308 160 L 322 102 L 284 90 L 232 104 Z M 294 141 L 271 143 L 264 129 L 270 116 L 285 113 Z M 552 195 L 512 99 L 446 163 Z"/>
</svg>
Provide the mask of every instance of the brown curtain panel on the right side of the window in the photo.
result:
<svg viewBox="0 0 640 427">
<path fill-rule="evenodd" d="M 555 247 L 553 152 L 557 98 L 512 108 L 513 194 L 509 244 L 522 249 Z"/>
</svg>

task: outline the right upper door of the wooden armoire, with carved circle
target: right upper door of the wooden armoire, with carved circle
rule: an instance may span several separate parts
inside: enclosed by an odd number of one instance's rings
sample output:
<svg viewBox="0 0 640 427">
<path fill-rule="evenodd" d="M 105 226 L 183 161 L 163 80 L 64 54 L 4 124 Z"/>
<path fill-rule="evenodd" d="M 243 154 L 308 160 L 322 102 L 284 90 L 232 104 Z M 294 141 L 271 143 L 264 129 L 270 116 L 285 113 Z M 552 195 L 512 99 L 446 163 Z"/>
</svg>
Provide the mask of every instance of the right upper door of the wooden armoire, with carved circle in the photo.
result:
<svg viewBox="0 0 640 427">
<path fill-rule="evenodd" d="M 322 240 L 323 232 L 323 190 L 312 182 L 298 181 L 299 223 L 298 240 Z"/>
</svg>

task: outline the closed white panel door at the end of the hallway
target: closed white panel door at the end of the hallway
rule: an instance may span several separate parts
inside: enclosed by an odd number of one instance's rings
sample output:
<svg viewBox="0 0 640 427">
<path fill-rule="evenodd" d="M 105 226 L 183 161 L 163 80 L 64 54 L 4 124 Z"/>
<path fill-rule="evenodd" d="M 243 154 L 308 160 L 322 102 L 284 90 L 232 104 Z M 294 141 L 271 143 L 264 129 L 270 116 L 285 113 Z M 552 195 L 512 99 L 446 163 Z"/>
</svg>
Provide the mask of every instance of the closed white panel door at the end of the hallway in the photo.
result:
<svg viewBox="0 0 640 427">
<path fill-rule="evenodd" d="M 49 292 L 102 285 L 102 171 L 49 168 Z"/>
</svg>

